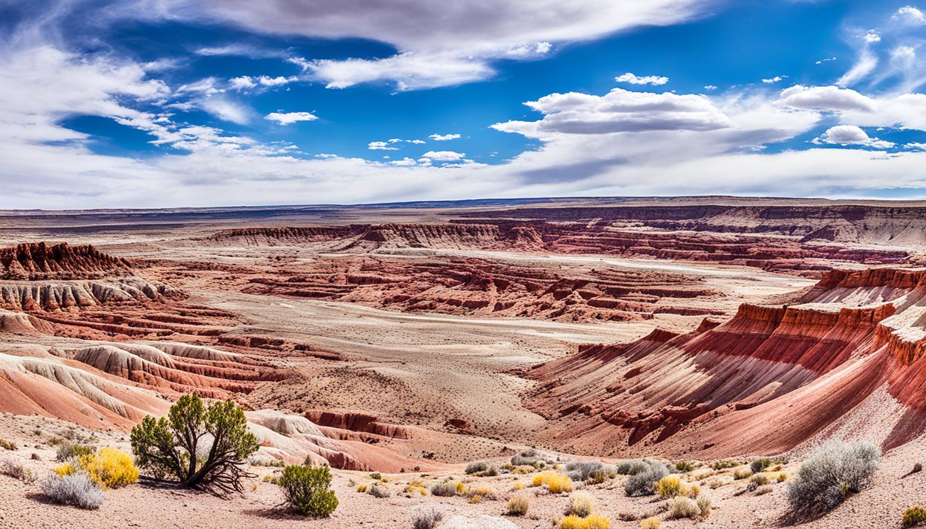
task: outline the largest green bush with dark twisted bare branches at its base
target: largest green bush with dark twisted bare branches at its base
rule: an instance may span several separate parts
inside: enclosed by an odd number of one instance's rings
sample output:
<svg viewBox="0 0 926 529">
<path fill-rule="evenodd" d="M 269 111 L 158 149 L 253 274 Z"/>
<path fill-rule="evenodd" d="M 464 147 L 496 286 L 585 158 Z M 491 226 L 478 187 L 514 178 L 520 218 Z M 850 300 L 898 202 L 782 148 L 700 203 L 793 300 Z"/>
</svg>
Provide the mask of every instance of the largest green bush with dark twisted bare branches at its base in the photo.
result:
<svg viewBox="0 0 926 529">
<path fill-rule="evenodd" d="M 243 492 L 248 456 L 257 452 L 244 410 L 231 400 L 206 407 L 200 397 L 184 395 L 167 418 L 148 415 L 131 429 L 131 449 L 139 467 L 156 479 L 206 488 L 219 494 Z"/>
</svg>

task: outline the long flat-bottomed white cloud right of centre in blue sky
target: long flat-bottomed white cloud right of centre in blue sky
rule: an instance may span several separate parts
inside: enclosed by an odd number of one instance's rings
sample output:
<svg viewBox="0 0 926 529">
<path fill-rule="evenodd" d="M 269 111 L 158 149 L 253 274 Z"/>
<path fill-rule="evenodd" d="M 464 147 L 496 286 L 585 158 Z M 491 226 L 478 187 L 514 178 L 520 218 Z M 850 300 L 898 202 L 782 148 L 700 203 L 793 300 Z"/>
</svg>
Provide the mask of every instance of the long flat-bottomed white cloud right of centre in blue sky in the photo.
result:
<svg viewBox="0 0 926 529">
<path fill-rule="evenodd" d="M 710 99 L 695 94 L 652 94 L 615 88 L 601 96 L 549 94 L 525 105 L 544 114 L 544 118 L 495 123 L 492 127 L 543 138 L 556 133 L 710 131 L 731 124 Z"/>
</svg>

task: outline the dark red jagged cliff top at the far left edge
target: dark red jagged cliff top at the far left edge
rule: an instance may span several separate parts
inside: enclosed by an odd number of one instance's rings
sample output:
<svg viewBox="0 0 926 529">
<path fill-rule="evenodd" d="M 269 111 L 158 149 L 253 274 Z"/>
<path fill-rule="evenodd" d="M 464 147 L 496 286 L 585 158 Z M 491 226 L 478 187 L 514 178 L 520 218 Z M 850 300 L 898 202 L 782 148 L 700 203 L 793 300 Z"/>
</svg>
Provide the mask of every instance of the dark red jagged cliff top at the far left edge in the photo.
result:
<svg viewBox="0 0 926 529">
<path fill-rule="evenodd" d="M 47 246 L 25 243 L 0 248 L 0 279 L 94 279 L 127 274 L 129 262 L 98 251 L 94 246 Z"/>
</svg>

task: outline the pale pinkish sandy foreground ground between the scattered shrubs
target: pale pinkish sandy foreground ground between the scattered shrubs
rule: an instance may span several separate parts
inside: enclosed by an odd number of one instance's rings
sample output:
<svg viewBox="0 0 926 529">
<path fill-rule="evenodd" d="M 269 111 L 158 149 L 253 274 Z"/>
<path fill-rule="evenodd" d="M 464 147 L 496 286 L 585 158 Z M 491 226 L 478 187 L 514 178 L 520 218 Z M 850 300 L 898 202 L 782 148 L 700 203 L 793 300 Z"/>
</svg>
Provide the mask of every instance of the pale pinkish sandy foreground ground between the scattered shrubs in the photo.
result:
<svg viewBox="0 0 926 529">
<path fill-rule="evenodd" d="M 42 476 L 56 465 L 55 447 L 49 439 L 68 435 L 74 438 L 91 438 L 97 446 L 114 446 L 127 450 L 125 435 L 92 432 L 75 428 L 66 422 L 42 417 L 0 416 L 0 432 L 13 440 L 31 439 L 22 443 L 15 452 L 0 450 L 0 460 L 17 460 Z M 31 460 L 31 454 L 41 460 Z M 926 472 L 902 477 L 914 462 L 926 460 L 926 439 L 897 448 L 882 458 L 879 471 L 870 488 L 848 498 L 845 503 L 826 516 L 801 527 L 820 529 L 869 529 L 900 527 L 903 510 L 926 501 Z M 505 460 L 495 460 L 500 464 Z M 780 472 L 793 479 L 799 463 L 789 463 Z M 743 467 L 745 468 L 745 467 Z M 385 475 L 388 483 L 381 484 L 391 492 L 389 498 L 374 498 L 357 492 L 357 485 L 371 485 L 376 481 L 365 472 L 333 471 L 333 489 L 339 507 L 331 518 L 314 519 L 295 515 L 281 507 L 282 491 L 277 485 L 265 483 L 260 477 L 279 472 L 268 467 L 252 467 L 258 475 L 248 480 L 243 496 L 222 499 L 215 496 L 164 486 L 129 485 L 106 492 L 106 500 L 99 510 L 80 510 L 48 503 L 37 484 L 23 484 L 0 475 L 0 527 L 27 529 L 36 527 L 141 527 L 141 528 L 244 528 L 244 527 L 300 527 L 319 528 L 369 527 L 375 529 L 405 529 L 412 527 L 415 510 L 434 505 L 444 511 L 447 518 L 462 516 L 503 516 L 507 499 L 514 494 L 516 483 L 527 485 L 524 490 L 531 497 L 531 508 L 525 517 L 504 516 L 519 528 L 542 529 L 553 526 L 553 520 L 562 515 L 569 505 L 569 495 L 551 495 L 541 487 L 530 486 L 532 474 L 502 474 L 495 477 L 470 477 L 463 472 L 432 474 L 406 473 Z M 682 474 L 689 483 L 700 483 L 702 495 L 710 498 L 713 508 L 703 522 L 670 520 L 667 513 L 659 514 L 662 527 L 711 527 L 740 529 L 744 527 L 786 527 L 784 515 L 788 510 L 785 490 L 787 481 L 771 485 L 771 492 L 757 496 L 742 491 L 748 479 L 734 481 L 733 470 L 712 471 L 707 464 L 693 472 Z M 777 474 L 778 472 L 774 472 Z M 453 477 L 471 487 L 488 485 L 496 498 L 481 503 L 469 503 L 464 497 L 436 498 L 421 496 L 418 492 L 405 493 L 409 481 L 417 480 L 428 486 Z M 639 527 L 636 521 L 622 521 L 621 514 L 640 516 L 657 512 L 664 500 L 657 497 L 628 498 L 623 491 L 624 478 L 607 480 L 600 485 L 577 485 L 594 497 L 596 512 L 611 520 L 611 527 Z M 720 484 L 711 488 L 712 481 Z"/>
</svg>

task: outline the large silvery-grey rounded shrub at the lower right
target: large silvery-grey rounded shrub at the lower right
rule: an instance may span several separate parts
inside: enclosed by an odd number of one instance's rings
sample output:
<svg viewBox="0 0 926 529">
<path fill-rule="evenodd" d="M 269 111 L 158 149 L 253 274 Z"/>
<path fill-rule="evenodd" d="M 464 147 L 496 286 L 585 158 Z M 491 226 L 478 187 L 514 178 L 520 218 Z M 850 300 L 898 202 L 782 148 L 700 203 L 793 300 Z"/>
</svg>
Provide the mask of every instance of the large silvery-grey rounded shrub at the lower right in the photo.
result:
<svg viewBox="0 0 926 529">
<path fill-rule="evenodd" d="M 867 443 L 821 447 L 788 485 L 793 513 L 806 517 L 832 510 L 870 484 L 880 458 L 881 450 Z"/>
</svg>

